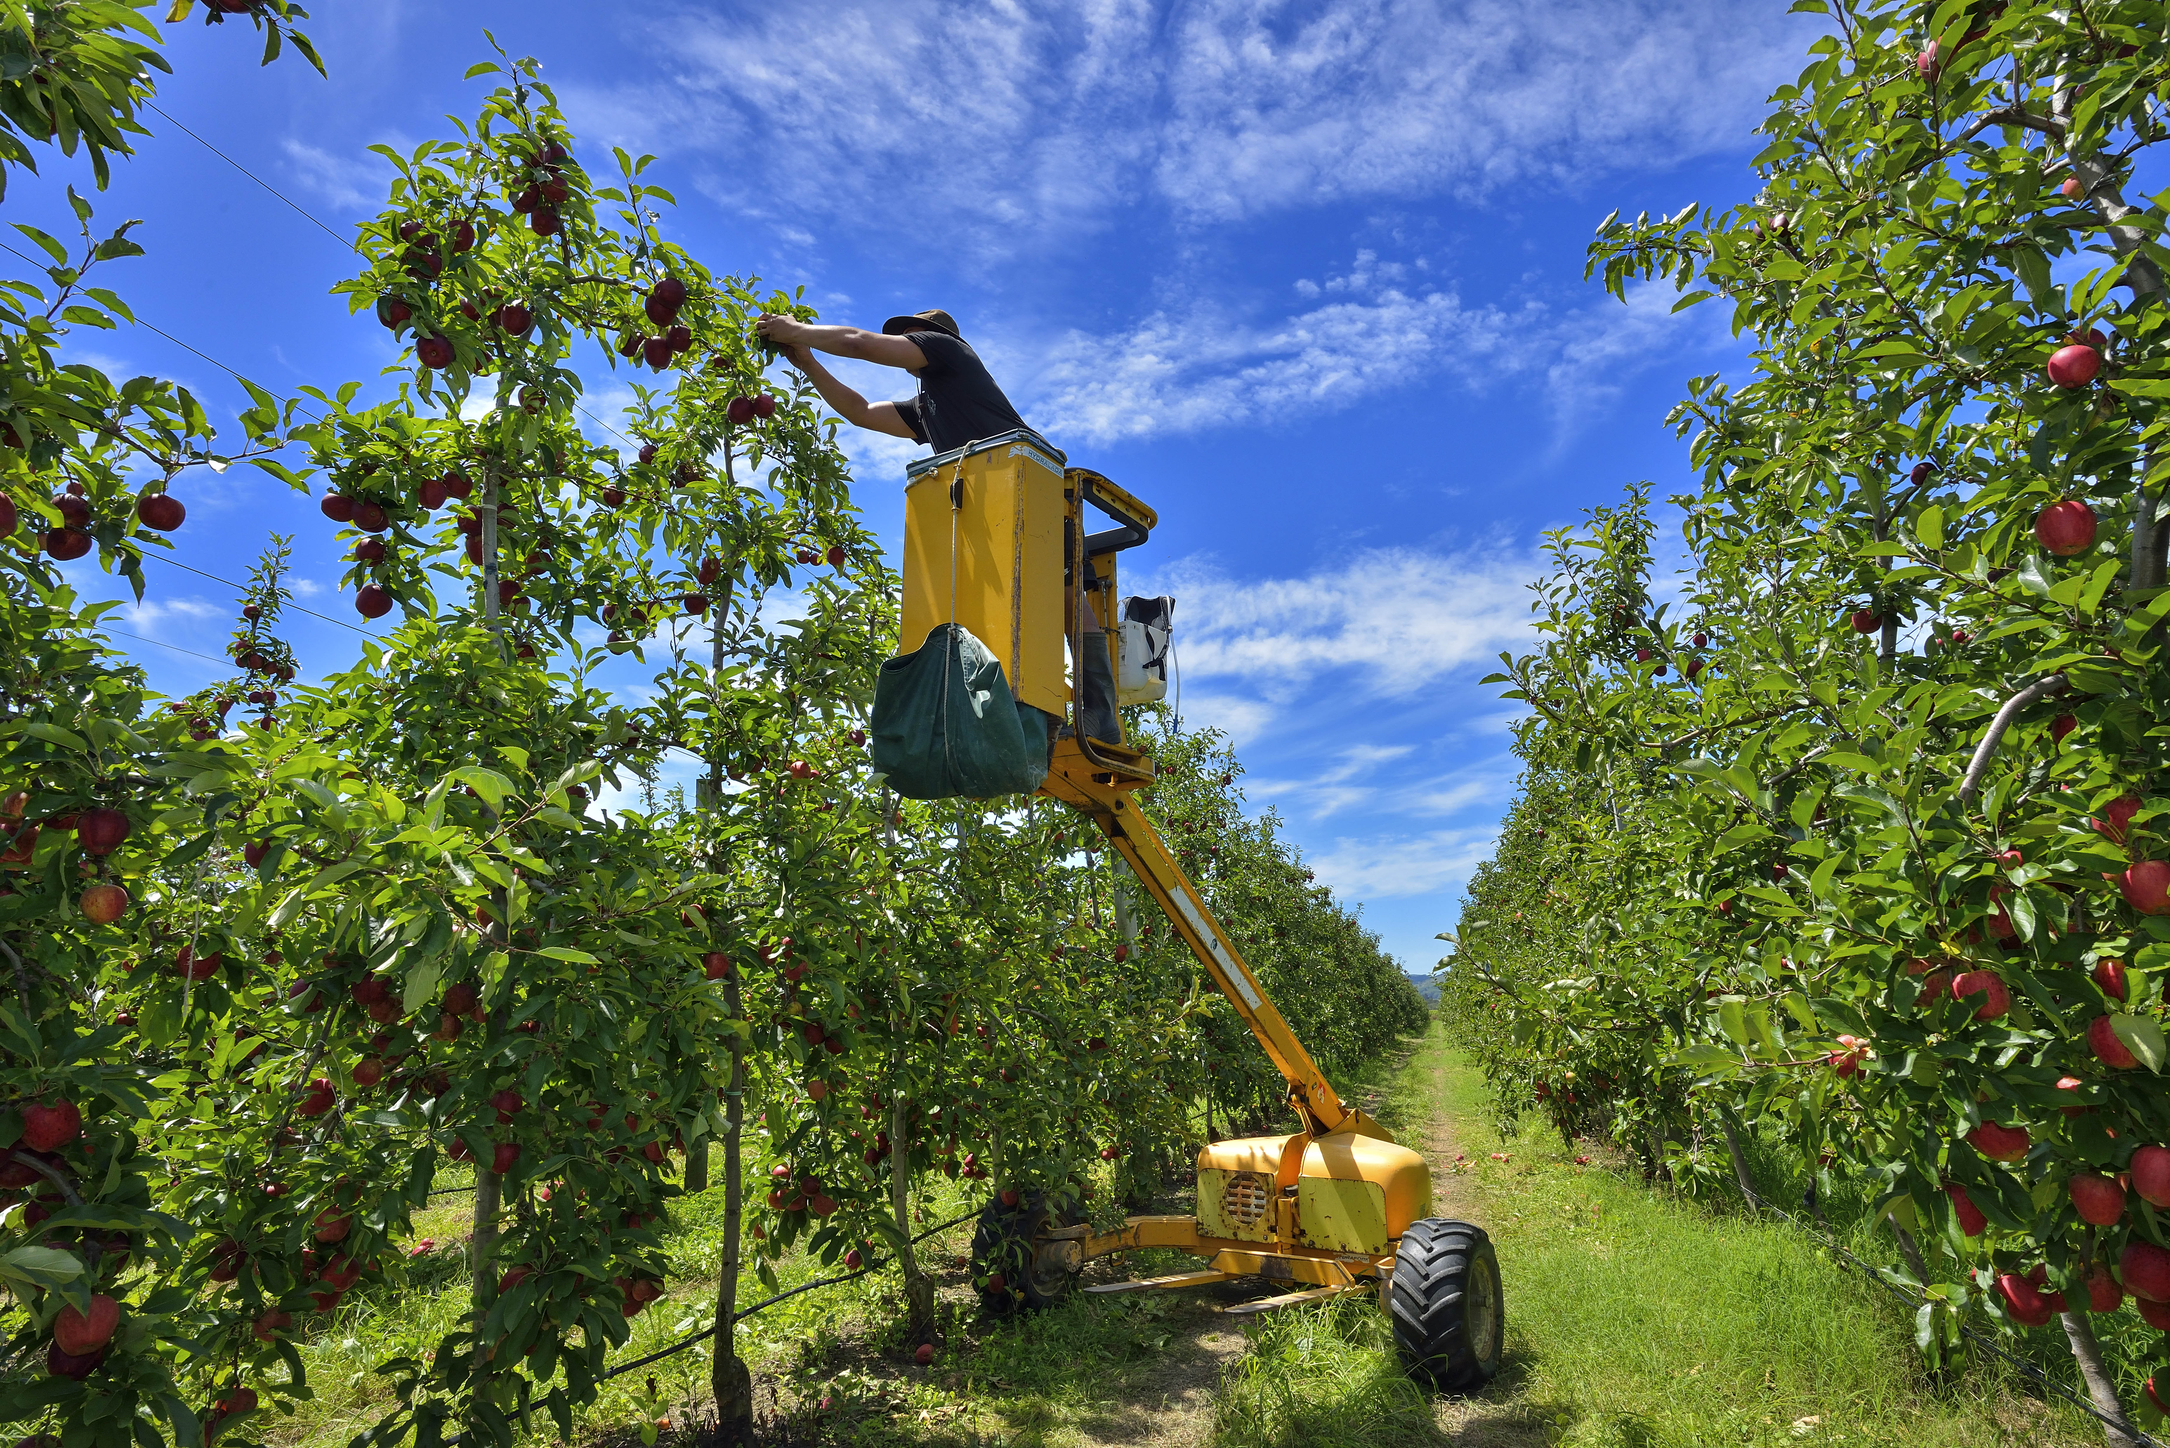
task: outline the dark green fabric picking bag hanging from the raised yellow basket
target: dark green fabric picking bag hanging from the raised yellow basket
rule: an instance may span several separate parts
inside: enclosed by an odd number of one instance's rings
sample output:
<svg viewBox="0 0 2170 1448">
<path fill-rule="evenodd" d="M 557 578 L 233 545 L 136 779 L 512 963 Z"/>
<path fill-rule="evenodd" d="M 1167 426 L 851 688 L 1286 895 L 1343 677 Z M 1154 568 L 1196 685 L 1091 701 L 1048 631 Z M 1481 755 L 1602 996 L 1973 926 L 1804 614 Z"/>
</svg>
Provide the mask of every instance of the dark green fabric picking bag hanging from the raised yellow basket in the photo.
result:
<svg viewBox="0 0 2170 1448">
<path fill-rule="evenodd" d="M 942 623 L 875 677 L 875 769 L 905 799 L 1029 795 L 1048 777 L 1048 714 L 1009 695 L 987 645 Z"/>
</svg>

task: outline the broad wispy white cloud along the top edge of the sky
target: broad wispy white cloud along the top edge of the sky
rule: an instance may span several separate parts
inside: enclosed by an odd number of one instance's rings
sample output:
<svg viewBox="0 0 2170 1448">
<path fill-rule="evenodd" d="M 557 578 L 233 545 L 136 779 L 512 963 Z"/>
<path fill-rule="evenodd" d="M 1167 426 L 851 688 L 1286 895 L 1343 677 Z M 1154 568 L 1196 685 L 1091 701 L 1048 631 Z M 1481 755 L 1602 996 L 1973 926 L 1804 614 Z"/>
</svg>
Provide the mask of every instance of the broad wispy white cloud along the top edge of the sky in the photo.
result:
<svg viewBox="0 0 2170 1448">
<path fill-rule="evenodd" d="M 1007 252 L 1122 224 L 1515 185 L 1740 150 L 1814 22 L 1738 0 L 935 0 L 642 7 L 662 76 L 582 128 L 705 152 L 703 189 Z M 786 221 L 790 217 L 790 221 Z"/>
</svg>

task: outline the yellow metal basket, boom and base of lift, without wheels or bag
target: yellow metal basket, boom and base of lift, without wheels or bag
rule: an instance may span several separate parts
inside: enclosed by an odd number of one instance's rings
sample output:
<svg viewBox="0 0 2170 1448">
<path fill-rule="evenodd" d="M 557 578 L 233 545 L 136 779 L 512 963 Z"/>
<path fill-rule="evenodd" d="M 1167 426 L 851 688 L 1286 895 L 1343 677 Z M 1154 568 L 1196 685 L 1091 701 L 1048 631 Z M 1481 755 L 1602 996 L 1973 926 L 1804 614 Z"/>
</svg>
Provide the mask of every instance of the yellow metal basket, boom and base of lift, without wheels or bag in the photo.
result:
<svg viewBox="0 0 2170 1448">
<path fill-rule="evenodd" d="M 1118 623 L 1118 554 L 1087 554 L 1085 504 L 1124 523 L 1131 541 L 1144 541 L 1159 519 L 1100 473 L 1078 467 L 1063 469 L 1057 501 L 1050 458 L 1061 454 L 1033 443 L 1029 434 L 1024 441 L 992 439 L 914 465 L 905 506 L 905 647 L 918 647 L 916 627 L 955 619 L 1011 664 L 1011 690 L 1022 703 L 1068 712 L 1074 725 L 1078 671 L 1070 669 L 1059 693 L 1048 690 L 1046 660 L 1059 662 L 1059 636 L 1068 636 L 1070 660 L 1078 660 L 1089 627 L 1109 630 L 1113 638 Z M 1209 1235 L 1202 1201 L 1200 1216 L 1137 1216 L 1111 1233 L 1059 1229 L 1042 1250 L 1072 1266 L 1141 1248 L 1176 1248 L 1211 1261 L 1202 1272 L 1105 1283 L 1094 1292 L 1157 1292 L 1237 1276 L 1298 1287 L 1237 1311 L 1380 1285 L 1393 1270 L 1402 1231 L 1430 1211 L 1430 1172 L 1417 1153 L 1395 1146 L 1384 1127 L 1341 1101 L 1267 999 L 1204 894 L 1137 808 L 1133 795 L 1152 777 L 1152 760 L 1141 751 L 1083 738 L 1072 727 L 1055 742 L 1039 792 L 1092 818 L 1124 858 L 1289 1083 L 1289 1105 L 1302 1129 L 1287 1138 L 1211 1142 L 1198 1153 L 1200 1194 L 1230 1174 L 1252 1177 L 1241 1203 L 1254 1216 L 1239 1222 L 1241 1235 Z M 1211 1216 L 1228 1227 L 1217 1205 Z"/>
</svg>

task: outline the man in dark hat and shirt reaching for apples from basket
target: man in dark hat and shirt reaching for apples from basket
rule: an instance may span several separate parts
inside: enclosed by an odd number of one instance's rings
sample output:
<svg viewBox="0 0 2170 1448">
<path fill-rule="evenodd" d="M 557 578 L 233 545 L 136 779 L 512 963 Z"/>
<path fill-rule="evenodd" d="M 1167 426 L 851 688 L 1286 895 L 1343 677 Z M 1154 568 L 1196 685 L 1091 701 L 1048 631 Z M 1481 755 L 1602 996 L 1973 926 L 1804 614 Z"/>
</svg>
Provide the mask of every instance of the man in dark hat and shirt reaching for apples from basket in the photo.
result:
<svg viewBox="0 0 2170 1448">
<path fill-rule="evenodd" d="M 987 365 L 957 334 L 957 321 L 940 308 L 890 317 L 881 323 L 881 332 L 814 326 L 775 315 L 764 315 L 755 330 L 762 341 L 781 347 L 783 356 L 807 373 L 822 402 L 855 428 L 950 452 L 1024 425 L 1018 408 L 1009 406 L 1009 397 L 987 373 Z M 905 402 L 868 402 L 838 382 L 814 358 L 816 352 L 903 367 L 920 380 L 920 391 Z"/>
</svg>

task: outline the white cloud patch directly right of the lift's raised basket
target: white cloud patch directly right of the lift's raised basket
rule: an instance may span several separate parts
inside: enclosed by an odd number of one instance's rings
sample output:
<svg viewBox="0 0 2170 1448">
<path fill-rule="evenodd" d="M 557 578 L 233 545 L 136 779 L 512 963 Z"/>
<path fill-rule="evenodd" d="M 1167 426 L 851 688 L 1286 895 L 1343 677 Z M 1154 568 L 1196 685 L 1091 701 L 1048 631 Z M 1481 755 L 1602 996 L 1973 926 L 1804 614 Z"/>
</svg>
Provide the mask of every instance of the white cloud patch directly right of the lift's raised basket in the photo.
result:
<svg viewBox="0 0 2170 1448">
<path fill-rule="evenodd" d="M 1402 699 L 1521 645 L 1539 571 L 1521 549 L 1389 547 L 1306 577 L 1237 580 L 1191 558 L 1152 590 L 1176 595 L 1176 656 L 1194 679 L 1287 699 L 1332 675 L 1358 699 Z"/>
</svg>

